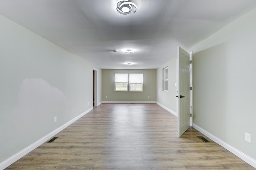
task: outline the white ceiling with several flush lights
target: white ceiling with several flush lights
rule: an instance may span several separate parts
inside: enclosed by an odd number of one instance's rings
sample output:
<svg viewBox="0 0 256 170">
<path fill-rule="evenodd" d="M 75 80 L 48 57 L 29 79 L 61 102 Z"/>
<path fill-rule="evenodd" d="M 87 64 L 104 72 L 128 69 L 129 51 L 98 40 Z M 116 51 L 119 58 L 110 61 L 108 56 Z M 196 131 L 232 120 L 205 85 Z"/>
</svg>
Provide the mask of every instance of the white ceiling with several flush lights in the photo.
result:
<svg viewBox="0 0 256 170">
<path fill-rule="evenodd" d="M 256 0 L 131 1 L 137 12 L 122 15 L 117 0 L 0 0 L 0 14 L 100 68 L 149 69 L 256 8 Z"/>
</svg>

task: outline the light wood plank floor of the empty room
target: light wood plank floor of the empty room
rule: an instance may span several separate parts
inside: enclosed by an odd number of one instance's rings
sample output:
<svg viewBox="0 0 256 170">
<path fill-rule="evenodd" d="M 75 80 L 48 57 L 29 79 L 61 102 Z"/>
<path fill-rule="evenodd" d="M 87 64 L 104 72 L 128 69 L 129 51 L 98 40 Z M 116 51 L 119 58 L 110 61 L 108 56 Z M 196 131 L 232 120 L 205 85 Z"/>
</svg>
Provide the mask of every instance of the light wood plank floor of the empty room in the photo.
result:
<svg viewBox="0 0 256 170">
<path fill-rule="evenodd" d="M 101 104 L 6 169 L 254 169 L 198 135 L 157 104 Z"/>
</svg>

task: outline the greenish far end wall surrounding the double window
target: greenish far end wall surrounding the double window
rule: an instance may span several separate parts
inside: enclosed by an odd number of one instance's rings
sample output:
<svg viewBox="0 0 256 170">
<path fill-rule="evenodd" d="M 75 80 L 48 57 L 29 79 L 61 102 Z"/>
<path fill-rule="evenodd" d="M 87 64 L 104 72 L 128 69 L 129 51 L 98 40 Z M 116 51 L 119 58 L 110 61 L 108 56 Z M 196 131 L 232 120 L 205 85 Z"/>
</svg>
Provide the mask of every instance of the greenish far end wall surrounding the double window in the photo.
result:
<svg viewBox="0 0 256 170">
<path fill-rule="evenodd" d="M 115 92 L 115 73 L 143 73 L 143 92 Z M 156 70 L 102 70 L 102 101 L 156 101 Z"/>
</svg>

